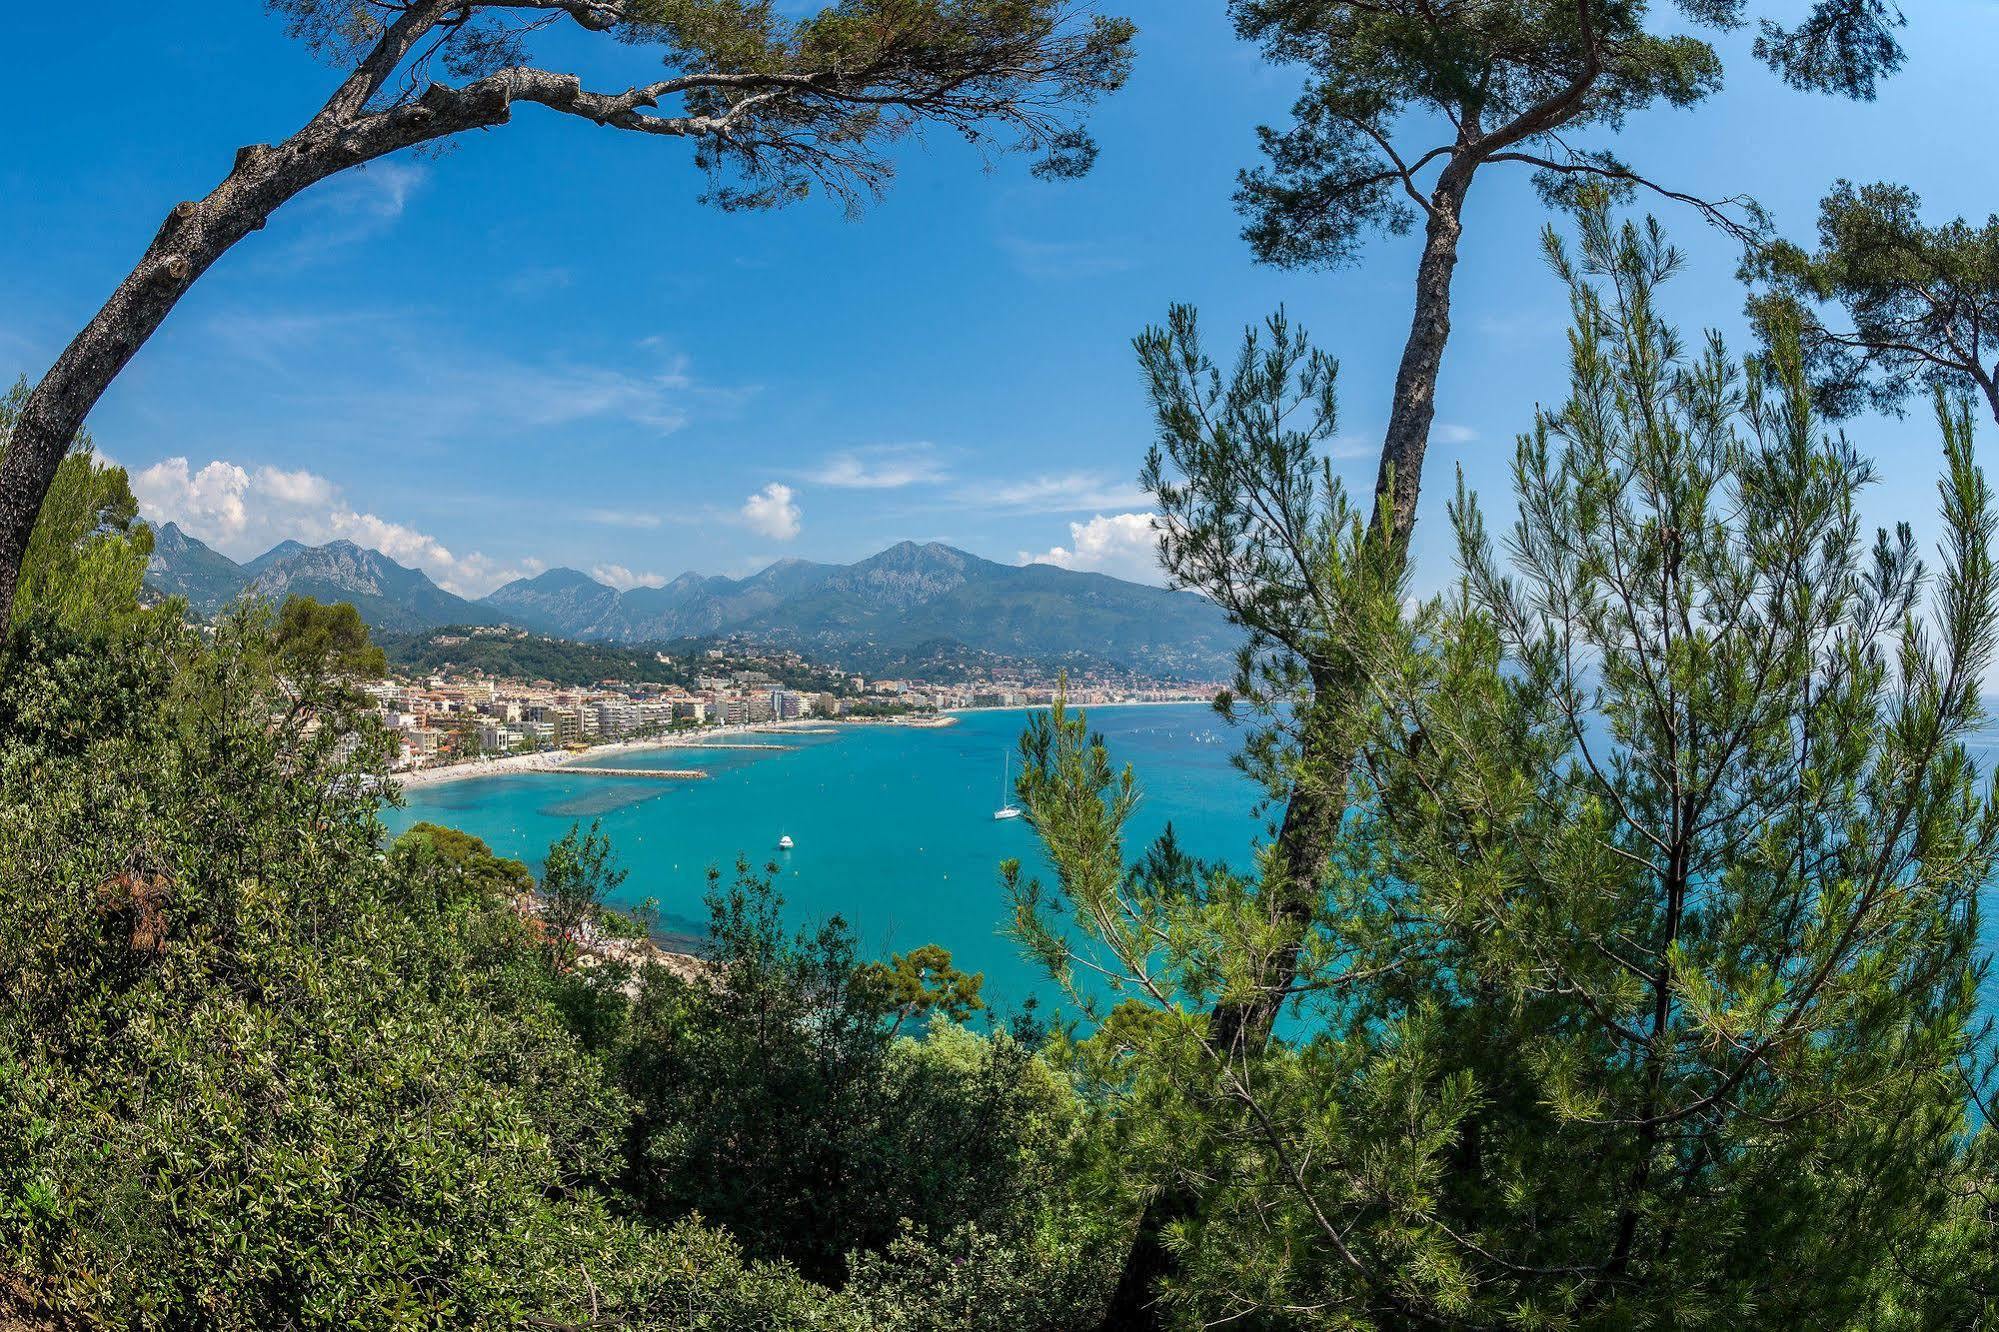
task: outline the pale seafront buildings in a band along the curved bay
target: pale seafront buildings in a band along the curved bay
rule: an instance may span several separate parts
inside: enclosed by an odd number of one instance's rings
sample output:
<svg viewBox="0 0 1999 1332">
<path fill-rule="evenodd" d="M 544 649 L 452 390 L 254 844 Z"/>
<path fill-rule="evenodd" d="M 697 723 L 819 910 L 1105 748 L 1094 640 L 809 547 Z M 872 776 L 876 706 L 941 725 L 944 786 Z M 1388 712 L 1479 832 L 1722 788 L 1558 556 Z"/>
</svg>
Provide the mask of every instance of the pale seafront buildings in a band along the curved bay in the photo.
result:
<svg viewBox="0 0 1999 1332">
<path fill-rule="evenodd" d="M 622 684 L 592 688 L 498 680 L 484 674 L 386 678 L 366 686 L 396 736 L 396 768 L 428 768 L 488 754 L 586 748 L 710 726 L 758 726 L 808 718 L 894 718 L 958 708 L 1031 708 L 1053 700 L 1053 680 L 1000 676 L 972 682 L 868 680 L 836 688 L 788 688 L 764 670 L 698 674 L 692 688 Z M 1073 678 L 1067 698 L 1107 702 L 1207 700 L 1213 686 L 1165 680 Z"/>
</svg>

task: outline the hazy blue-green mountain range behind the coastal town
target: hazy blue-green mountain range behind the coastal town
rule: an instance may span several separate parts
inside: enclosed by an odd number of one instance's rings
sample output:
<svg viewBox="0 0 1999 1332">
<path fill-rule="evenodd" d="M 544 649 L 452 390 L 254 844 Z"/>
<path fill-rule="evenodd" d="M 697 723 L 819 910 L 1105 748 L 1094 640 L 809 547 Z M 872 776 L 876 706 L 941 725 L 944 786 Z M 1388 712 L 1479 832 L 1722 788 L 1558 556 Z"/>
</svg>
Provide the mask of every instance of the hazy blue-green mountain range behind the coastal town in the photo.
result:
<svg viewBox="0 0 1999 1332">
<path fill-rule="evenodd" d="M 1239 642 L 1221 612 L 1189 592 L 1053 564 L 998 564 L 942 542 L 902 542 L 856 564 L 780 560 L 748 578 L 682 574 L 658 588 L 618 590 L 556 568 L 466 600 L 354 542 L 284 542 L 236 564 L 168 522 L 154 534 L 148 582 L 202 614 L 254 588 L 354 602 L 380 632 L 514 624 L 584 642 L 740 636 L 876 662 L 970 648 L 1213 678 Z"/>
</svg>

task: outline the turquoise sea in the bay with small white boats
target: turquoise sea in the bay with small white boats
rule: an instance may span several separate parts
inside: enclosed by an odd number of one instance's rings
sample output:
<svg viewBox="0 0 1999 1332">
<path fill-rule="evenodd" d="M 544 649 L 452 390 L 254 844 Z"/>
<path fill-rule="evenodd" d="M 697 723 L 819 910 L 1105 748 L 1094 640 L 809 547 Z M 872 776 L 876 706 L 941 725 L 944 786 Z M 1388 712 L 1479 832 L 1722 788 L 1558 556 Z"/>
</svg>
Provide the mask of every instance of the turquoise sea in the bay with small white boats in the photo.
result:
<svg viewBox="0 0 1999 1332">
<path fill-rule="evenodd" d="M 794 746 L 752 750 L 646 750 L 592 766 L 706 768 L 696 782 L 608 776 L 496 776 L 408 792 L 384 810 L 392 832 L 418 820 L 484 838 L 502 856 L 540 864 L 572 822 L 600 818 L 630 878 L 622 904 L 654 898 L 662 924 L 702 934 L 708 866 L 736 856 L 776 860 L 786 914 L 814 924 L 840 914 L 864 954 L 944 944 L 958 966 L 986 974 L 1001 1012 L 1027 996 L 1059 1000 L 1039 968 L 1001 934 L 1000 862 L 1017 856 L 1043 870 L 1021 820 L 996 822 L 1001 762 L 1015 752 L 1027 712 L 968 712 L 956 726 L 842 726 L 836 734 L 758 734 L 738 740 Z M 1263 822 L 1257 792 L 1229 754 L 1239 744 L 1205 704 L 1089 710 L 1111 758 L 1129 762 L 1141 800 L 1131 846 L 1171 820 L 1195 856 L 1247 868 Z M 790 836 L 794 850 L 778 850 Z"/>
</svg>

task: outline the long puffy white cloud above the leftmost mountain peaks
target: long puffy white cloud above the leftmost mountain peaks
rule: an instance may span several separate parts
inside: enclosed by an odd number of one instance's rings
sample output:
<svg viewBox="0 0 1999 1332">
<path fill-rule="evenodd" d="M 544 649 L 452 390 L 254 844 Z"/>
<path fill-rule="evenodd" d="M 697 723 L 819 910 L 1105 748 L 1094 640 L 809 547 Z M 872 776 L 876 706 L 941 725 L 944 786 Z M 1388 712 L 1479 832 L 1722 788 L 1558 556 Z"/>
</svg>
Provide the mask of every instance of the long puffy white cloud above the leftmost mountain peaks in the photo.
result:
<svg viewBox="0 0 1999 1332">
<path fill-rule="evenodd" d="M 502 582 L 542 570 L 540 560 L 504 562 L 476 550 L 456 554 L 428 532 L 356 510 L 340 486 L 308 470 L 250 470 L 220 458 L 194 470 L 186 458 L 166 458 L 132 476 L 132 494 L 146 518 L 176 522 L 238 560 L 288 538 L 308 546 L 350 540 L 424 570 L 460 596 L 484 596 Z"/>
</svg>

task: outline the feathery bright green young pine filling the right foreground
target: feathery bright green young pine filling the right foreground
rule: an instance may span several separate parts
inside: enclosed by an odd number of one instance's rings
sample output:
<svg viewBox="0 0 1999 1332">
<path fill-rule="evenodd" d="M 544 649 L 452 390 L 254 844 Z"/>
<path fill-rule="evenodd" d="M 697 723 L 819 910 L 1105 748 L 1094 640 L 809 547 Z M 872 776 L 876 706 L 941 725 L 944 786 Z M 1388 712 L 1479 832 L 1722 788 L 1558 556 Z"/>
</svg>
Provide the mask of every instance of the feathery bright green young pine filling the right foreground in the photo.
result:
<svg viewBox="0 0 1999 1332">
<path fill-rule="evenodd" d="M 1929 568 L 1907 526 L 1867 540 L 1871 464 L 1795 344 L 1743 366 L 1671 330 L 1655 226 L 1599 210 L 1549 248 L 1571 396 L 1519 440 L 1517 522 L 1495 540 L 1459 488 L 1457 588 L 1397 612 L 1357 584 L 1333 620 L 1361 716 L 1299 936 L 1269 854 L 1129 856 L 1137 776 L 1081 718 L 1023 742 L 1055 878 L 1007 868 L 1017 930 L 1119 1000 L 1073 1052 L 1103 1170 L 1183 1200 L 1155 1320 L 1975 1312 L 1999 512 L 1969 408 L 1937 404 Z M 1291 1020 L 1229 1040 L 1277 946 Z"/>
</svg>

